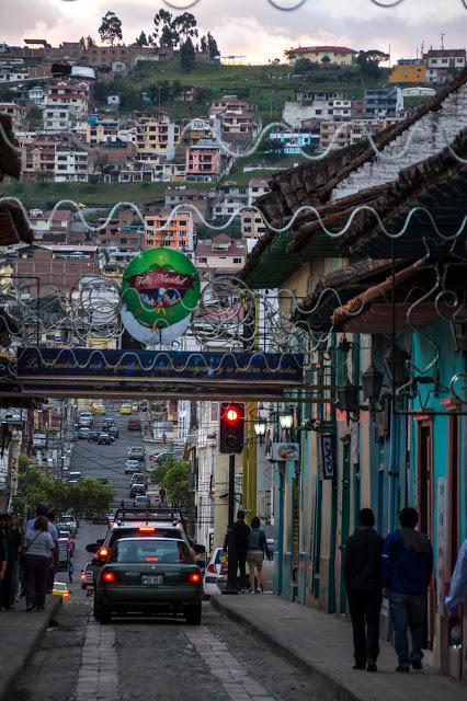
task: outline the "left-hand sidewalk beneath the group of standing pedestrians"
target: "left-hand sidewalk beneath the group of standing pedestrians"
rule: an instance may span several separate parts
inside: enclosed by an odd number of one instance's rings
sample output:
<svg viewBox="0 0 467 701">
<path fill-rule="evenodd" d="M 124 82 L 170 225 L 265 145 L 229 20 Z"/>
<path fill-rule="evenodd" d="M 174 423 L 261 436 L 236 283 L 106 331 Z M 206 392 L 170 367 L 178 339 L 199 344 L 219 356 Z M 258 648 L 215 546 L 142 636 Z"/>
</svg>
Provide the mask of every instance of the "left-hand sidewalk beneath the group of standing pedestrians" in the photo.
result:
<svg viewBox="0 0 467 701">
<path fill-rule="evenodd" d="M 0 611 L 0 701 L 21 674 L 50 618 L 61 606 L 61 599 L 48 596 L 44 613 L 26 613 L 24 599 L 16 606 L 14 611 Z"/>
</svg>

